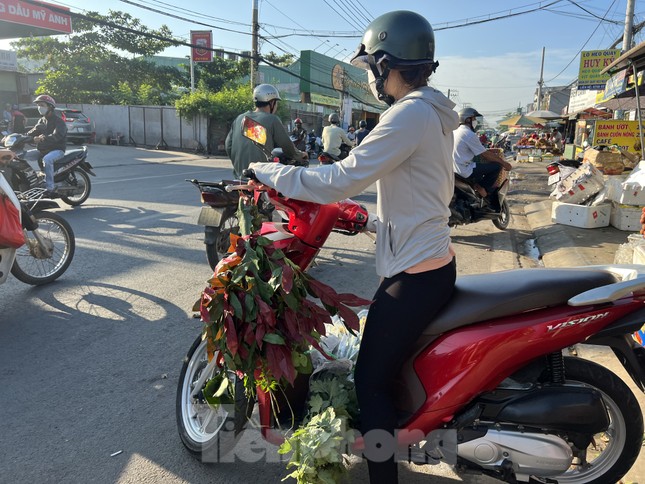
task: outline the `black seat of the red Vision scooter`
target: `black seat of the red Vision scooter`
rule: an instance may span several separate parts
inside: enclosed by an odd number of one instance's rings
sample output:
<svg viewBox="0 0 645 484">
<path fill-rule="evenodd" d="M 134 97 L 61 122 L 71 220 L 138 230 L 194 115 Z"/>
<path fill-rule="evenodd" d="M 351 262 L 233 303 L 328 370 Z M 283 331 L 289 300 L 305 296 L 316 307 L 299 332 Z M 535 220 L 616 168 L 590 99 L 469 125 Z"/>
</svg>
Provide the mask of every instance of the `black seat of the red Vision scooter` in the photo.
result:
<svg viewBox="0 0 645 484">
<path fill-rule="evenodd" d="M 584 291 L 619 282 L 603 269 L 515 269 L 457 278 L 448 304 L 426 327 L 439 335 L 469 324 L 566 304 Z"/>
</svg>

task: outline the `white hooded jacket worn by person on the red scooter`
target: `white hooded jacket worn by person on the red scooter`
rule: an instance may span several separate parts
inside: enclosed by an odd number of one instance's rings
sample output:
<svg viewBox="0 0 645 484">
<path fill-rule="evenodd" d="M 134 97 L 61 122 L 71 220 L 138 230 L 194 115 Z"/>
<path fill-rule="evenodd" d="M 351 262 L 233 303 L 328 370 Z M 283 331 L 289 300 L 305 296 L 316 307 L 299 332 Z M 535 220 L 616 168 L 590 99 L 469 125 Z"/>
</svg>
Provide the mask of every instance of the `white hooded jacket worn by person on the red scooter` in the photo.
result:
<svg viewBox="0 0 645 484">
<path fill-rule="evenodd" d="M 316 168 L 253 163 L 258 180 L 287 197 L 331 203 L 377 182 L 376 272 L 392 277 L 449 253 L 455 104 L 431 87 L 381 115 L 344 160 Z"/>
</svg>

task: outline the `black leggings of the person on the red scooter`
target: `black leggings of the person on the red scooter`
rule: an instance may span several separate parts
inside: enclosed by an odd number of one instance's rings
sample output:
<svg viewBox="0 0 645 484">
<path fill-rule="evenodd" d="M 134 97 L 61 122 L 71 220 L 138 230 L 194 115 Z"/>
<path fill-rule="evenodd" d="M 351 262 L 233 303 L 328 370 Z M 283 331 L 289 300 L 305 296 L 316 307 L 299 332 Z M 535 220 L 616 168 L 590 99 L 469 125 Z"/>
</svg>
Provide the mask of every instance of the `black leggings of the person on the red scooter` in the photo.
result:
<svg viewBox="0 0 645 484">
<path fill-rule="evenodd" d="M 395 484 L 398 480 L 392 388 L 419 336 L 450 299 L 456 273 L 453 259 L 433 271 L 402 272 L 386 278 L 376 291 L 355 371 L 371 484 Z"/>
</svg>

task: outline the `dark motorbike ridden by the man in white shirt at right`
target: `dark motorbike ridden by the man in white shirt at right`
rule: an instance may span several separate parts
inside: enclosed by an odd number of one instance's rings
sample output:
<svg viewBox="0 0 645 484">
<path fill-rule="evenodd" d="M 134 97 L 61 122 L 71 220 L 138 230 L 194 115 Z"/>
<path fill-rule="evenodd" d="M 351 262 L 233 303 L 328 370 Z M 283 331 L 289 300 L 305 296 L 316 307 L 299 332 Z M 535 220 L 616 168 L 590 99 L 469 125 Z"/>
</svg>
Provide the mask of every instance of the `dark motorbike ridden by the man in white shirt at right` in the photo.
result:
<svg viewBox="0 0 645 484">
<path fill-rule="evenodd" d="M 455 174 L 455 191 L 450 201 L 448 225 L 455 227 L 481 220 L 491 220 L 500 230 L 508 228 L 511 222 L 511 211 L 506 200 L 509 184 L 508 172 L 502 169 L 496 189 L 499 206 L 493 207 L 487 197 L 479 194 L 473 183 Z"/>
</svg>

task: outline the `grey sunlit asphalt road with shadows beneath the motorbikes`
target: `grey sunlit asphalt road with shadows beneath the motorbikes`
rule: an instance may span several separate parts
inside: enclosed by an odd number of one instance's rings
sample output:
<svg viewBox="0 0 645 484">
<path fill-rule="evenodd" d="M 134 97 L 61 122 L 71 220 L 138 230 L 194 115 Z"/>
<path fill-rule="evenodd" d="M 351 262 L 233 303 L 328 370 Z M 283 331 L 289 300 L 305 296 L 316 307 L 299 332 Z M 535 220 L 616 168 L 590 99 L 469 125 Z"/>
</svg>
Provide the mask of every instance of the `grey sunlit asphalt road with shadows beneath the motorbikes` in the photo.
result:
<svg viewBox="0 0 645 484">
<path fill-rule="evenodd" d="M 59 210 L 77 249 L 55 283 L 0 286 L 0 482 L 279 482 L 273 448 L 254 462 L 205 466 L 175 426 L 181 360 L 199 334 L 191 307 L 210 276 L 199 193 L 187 178 L 231 176 L 227 160 L 90 146 L 90 199 Z M 374 207 L 374 189 L 356 197 Z M 490 222 L 453 231 L 460 273 L 534 265 L 521 204 L 510 230 Z M 374 245 L 332 234 L 311 273 L 370 297 Z M 266 458 L 261 458 L 264 455 Z M 404 466 L 402 482 L 493 482 L 446 466 Z M 353 466 L 355 482 L 366 478 Z"/>
</svg>

